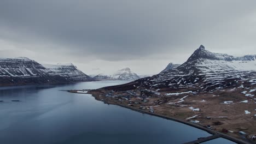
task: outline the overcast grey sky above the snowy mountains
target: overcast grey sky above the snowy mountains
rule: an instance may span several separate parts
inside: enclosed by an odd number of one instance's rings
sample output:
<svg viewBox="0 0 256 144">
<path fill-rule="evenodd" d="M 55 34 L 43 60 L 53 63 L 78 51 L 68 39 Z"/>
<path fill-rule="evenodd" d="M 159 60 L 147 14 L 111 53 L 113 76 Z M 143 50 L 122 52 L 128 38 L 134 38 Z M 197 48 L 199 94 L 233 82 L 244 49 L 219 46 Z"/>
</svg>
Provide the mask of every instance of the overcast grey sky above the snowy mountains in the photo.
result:
<svg viewBox="0 0 256 144">
<path fill-rule="evenodd" d="M 156 74 L 207 50 L 256 54 L 256 1 L 0 0 L 0 57 Z M 99 70 L 100 69 L 100 70 Z"/>
</svg>

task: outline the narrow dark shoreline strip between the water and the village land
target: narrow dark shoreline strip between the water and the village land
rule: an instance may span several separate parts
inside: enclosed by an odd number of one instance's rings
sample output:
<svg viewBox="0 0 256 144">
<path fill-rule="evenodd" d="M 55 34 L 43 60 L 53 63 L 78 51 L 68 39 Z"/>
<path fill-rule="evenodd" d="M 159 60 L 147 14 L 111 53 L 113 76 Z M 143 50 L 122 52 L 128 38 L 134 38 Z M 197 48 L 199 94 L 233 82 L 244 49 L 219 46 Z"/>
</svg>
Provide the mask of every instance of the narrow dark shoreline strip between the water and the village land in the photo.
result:
<svg viewBox="0 0 256 144">
<path fill-rule="evenodd" d="M 95 100 L 102 101 L 102 100 L 98 99 L 96 95 L 94 95 L 94 94 L 92 94 L 92 93 L 79 93 L 79 92 L 77 92 L 77 90 L 68 90 L 67 92 L 70 92 L 70 93 L 78 93 L 78 94 L 90 94 L 92 97 L 95 98 Z M 126 108 L 126 109 L 130 109 L 130 110 L 133 110 L 133 111 L 136 111 L 136 112 L 140 112 L 140 113 L 144 113 L 144 114 L 147 114 L 147 115 L 151 115 L 151 116 L 156 116 L 156 117 L 168 119 L 168 120 L 171 120 L 171 121 L 174 121 L 174 122 L 183 123 L 183 124 L 189 125 L 190 127 L 194 127 L 194 128 L 197 128 L 197 129 L 201 129 L 201 130 L 203 130 L 203 131 L 206 131 L 206 132 L 209 133 L 209 134 L 212 134 L 212 135 L 219 135 L 219 137 L 217 137 L 216 139 L 218 139 L 218 138 L 224 138 L 224 139 L 230 140 L 230 141 L 232 141 L 232 142 L 236 142 L 236 143 L 244 143 L 244 144 L 249 144 L 249 143 L 250 143 L 250 142 L 247 142 L 247 141 L 245 141 L 245 140 L 237 139 L 236 137 L 232 137 L 232 136 L 230 136 L 230 135 L 220 133 L 219 131 L 214 131 L 214 130 L 211 130 L 211 129 L 202 127 L 201 125 L 184 121 L 184 120 L 182 120 L 182 119 L 178 119 L 178 118 L 174 118 L 174 117 L 169 117 L 169 116 L 164 116 L 164 115 L 159 115 L 159 114 L 157 114 L 157 113 L 152 113 L 152 112 L 144 111 L 144 110 L 141 110 L 141 109 L 137 109 L 137 108 L 135 108 L 135 107 L 126 106 L 126 105 L 121 105 L 121 104 L 118 104 L 118 103 L 107 102 L 107 101 L 105 101 L 104 99 L 103 99 L 102 102 L 103 102 L 104 104 L 108 104 L 108 105 L 117 105 L 117 106 L 121 106 L 121 107 L 124 107 L 124 108 Z M 197 138 L 199 138 L 199 137 L 197 137 Z"/>
</svg>

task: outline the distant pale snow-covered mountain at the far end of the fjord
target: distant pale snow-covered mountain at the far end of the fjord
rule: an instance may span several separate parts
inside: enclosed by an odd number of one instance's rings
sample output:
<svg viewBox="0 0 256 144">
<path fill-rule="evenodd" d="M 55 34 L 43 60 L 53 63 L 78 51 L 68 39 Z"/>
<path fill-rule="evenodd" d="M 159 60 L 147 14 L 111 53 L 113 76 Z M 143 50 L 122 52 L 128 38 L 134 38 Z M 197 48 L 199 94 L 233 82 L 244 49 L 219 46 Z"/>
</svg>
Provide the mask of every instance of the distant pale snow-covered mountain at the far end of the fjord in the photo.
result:
<svg viewBox="0 0 256 144">
<path fill-rule="evenodd" d="M 94 77 L 96 80 L 137 80 L 139 76 L 133 73 L 130 68 L 124 68 L 116 71 L 114 74 L 98 74 Z"/>
</svg>

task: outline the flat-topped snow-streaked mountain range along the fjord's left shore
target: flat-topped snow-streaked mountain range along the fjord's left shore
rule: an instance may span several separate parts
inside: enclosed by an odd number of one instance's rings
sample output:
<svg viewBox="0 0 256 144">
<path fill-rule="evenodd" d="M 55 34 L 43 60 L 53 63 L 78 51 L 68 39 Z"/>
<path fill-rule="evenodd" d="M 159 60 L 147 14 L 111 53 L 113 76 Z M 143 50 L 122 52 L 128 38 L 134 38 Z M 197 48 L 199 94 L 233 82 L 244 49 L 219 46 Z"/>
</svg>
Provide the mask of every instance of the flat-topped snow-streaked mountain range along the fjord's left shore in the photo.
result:
<svg viewBox="0 0 256 144">
<path fill-rule="evenodd" d="M 70 73 L 70 75 L 67 73 Z M 91 77 L 83 74 L 77 68 L 63 67 L 57 72 L 54 68 L 45 68 L 42 64 L 26 57 L 0 58 L 0 86 L 69 83 L 91 80 L 93 80 Z"/>
</svg>

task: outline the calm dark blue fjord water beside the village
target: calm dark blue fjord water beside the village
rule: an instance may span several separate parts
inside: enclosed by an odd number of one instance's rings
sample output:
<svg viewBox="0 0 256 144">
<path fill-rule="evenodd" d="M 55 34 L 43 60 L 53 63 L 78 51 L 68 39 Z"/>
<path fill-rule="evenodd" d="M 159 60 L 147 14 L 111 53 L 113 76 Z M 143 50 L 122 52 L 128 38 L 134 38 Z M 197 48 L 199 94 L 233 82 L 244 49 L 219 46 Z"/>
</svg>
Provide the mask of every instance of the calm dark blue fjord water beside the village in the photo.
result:
<svg viewBox="0 0 256 144">
<path fill-rule="evenodd" d="M 170 144 L 210 136 L 185 124 L 104 104 L 89 94 L 59 91 L 100 88 L 126 82 L 2 87 L 0 143 Z"/>
</svg>

